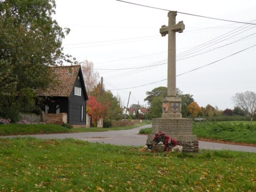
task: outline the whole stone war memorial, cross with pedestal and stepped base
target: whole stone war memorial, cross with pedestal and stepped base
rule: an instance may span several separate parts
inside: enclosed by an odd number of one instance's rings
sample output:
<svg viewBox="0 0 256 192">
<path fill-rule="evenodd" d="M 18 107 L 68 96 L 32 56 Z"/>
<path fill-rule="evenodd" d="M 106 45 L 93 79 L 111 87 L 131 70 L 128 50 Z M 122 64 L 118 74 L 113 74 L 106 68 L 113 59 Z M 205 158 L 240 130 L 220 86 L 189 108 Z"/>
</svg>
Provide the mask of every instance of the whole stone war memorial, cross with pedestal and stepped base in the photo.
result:
<svg viewBox="0 0 256 192">
<path fill-rule="evenodd" d="M 162 36 L 168 34 L 168 69 L 167 69 L 167 97 L 162 103 L 161 118 L 152 119 L 152 133 L 147 137 L 147 145 L 153 145 L 154 134 L 159 131 L 175 139 L 185 152 L 197 152 L 197 136 L 192 135 L 192 120 L 182 118 L 181 98 L 176 96 L 176 32 L 185 29 L 183 22 L 176 24 L 177 11 L 168 12 L 168 26 L 162 26 Z"/>
</svg>

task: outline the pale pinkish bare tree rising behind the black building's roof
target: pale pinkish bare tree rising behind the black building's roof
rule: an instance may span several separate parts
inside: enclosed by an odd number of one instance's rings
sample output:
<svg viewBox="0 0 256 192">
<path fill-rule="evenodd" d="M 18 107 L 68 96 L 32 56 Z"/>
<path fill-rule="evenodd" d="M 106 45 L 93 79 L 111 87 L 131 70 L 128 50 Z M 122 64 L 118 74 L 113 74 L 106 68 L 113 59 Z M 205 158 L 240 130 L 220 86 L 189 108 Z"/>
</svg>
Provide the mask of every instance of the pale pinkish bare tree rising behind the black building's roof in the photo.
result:
<svg viewBox="0 0 256 192">
<path fill-rule="evenodd" d="M 94 87 L 97 86 L 97 83 L 99 82 L 99 74 L 94 71 L 92 61 L 84 60 L 81 63 L 81 68 L 83 80 L 86 84 L 86 90 L 88 92 L 88 95 L 90 95 L 90 92 L 93 90 Z"/>
</svg>

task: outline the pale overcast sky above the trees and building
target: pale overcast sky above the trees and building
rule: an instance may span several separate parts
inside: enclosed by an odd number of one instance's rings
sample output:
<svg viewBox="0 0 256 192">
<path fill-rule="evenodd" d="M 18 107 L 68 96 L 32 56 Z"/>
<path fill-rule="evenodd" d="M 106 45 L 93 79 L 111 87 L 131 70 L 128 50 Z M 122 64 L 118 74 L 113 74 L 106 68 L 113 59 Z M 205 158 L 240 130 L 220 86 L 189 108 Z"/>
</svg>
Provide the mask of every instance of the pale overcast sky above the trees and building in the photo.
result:
<svg viewBox="0 0 256 192">
<path fill-rule="evenodd" d="M 256 24 L 254 0 L 129 2 Z M 168 25 L 168 11 L 114 0 L 56 0 L 56 6 L 54 18 L 71 29 L 63 40 L 64 52 L 92 61 L 105 89 L 118 94 L 123 105 L 130 91 L 129 105 L 145 105 L 146 91 L 167 86 L 168 37 L 161 37 L 159 28 Z M 256 25 L 182 13 L 176 17 L 185 24 L 183 33 L 176 34 L 177 75 L 205 67 L 177 76 L 177 88 L 200 106 L 233 109 L 234 94 L 256 92 Z"/>
</svg>

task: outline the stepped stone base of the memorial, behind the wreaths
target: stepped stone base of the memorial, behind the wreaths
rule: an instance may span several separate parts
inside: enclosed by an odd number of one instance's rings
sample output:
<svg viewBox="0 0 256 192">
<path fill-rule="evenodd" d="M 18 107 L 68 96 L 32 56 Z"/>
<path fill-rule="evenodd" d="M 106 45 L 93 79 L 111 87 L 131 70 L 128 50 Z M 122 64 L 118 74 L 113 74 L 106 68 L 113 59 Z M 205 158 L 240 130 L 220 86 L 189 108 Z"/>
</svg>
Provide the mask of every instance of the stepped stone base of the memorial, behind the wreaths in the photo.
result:
<svg viewBox="0 0 256 192">
<path fill-rule="evenodd" d="M 147 136 L 147 145 L 153 145 L 155 134 L 159 131 L 175 139 L 183 147 L 183 152 L 198 152 L 197 136 L 192 135 L 192 120 L 185 118 L 154 118 L 152 133 Z"/>
</svg>

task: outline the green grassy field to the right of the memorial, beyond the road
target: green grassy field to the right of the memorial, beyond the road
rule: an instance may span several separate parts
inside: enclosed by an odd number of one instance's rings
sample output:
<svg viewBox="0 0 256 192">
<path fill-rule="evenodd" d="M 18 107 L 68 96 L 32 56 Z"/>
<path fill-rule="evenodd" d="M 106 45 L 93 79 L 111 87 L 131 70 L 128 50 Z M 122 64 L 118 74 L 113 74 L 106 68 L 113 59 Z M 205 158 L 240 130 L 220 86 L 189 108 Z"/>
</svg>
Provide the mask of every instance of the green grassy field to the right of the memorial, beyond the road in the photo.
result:
<svg viewBox="0 0 256 192">
<path fill-rule="evenodd" d="M 201 138 L 256 143 L 256 122 L 248 121 L 194 123 L 193 134 Z"/>
</svg>

